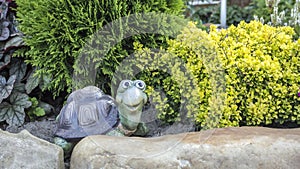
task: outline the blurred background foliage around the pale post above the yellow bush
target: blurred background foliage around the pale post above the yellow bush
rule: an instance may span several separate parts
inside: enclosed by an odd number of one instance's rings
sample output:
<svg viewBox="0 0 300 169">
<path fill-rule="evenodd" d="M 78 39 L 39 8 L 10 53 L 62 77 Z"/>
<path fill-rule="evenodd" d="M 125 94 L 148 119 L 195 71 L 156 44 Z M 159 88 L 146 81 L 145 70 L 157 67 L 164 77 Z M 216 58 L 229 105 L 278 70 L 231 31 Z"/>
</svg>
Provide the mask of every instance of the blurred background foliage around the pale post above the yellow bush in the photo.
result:
<svg viewBox="0 0 300 169">
<path fill-rule="evenodd" d="M 186 17 L 192 21 L 198 23 L 198 27 L 203 28 L 203 25 L 210 25 L 212 23 L 220 23 L 220 4 L 217 5 L 191 5 L 186 1 Z M 209 0 L 203 0 L 207 2 Z M 250 22 L 258 18 L 263 18 L 264 23 L 270 23 L 271 15 L 274 14 L 276 9 L 278 15 L 280 12 L 284 12 L 283 23 L 289 24 L 290 20 L 293 20 L 291 16 L 292 9 L 297 8 L 299 11 L 299 5 L 296 5 L 296 0 L 227 0 L 227 25 L 237 25 L 241 21 Z M 299 24 L 299 23 L 298 23 Z"/>
</svg>

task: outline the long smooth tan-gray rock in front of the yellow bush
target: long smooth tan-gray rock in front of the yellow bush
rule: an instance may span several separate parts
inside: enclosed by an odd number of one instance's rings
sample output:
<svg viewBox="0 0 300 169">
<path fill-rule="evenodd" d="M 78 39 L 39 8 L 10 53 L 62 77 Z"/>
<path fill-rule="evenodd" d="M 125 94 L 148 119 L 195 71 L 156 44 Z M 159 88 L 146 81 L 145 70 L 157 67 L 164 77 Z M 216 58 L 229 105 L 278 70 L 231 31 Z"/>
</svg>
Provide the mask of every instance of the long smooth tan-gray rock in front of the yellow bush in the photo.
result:
<svg viewBox="0 0 300 169">
<path fill-rule="evenodd" d="M 71 169 L 300 168 L 300 128 L 223 128 L 156 138 L 89 136 Z"/>
</svg>

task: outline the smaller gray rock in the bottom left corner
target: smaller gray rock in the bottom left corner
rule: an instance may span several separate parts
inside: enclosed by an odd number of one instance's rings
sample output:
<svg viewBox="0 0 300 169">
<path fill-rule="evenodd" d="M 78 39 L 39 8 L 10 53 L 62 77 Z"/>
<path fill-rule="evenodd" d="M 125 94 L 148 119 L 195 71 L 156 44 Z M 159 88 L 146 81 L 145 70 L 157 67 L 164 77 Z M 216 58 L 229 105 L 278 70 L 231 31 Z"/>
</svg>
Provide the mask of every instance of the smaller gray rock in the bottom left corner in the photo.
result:
<svg viewBox="0 0 300 169">
<path fill-rule="evenodd" d="M 1 169 L 64 169 L 63 150 L 23 130 L 0 130 Z"/>
</svg>

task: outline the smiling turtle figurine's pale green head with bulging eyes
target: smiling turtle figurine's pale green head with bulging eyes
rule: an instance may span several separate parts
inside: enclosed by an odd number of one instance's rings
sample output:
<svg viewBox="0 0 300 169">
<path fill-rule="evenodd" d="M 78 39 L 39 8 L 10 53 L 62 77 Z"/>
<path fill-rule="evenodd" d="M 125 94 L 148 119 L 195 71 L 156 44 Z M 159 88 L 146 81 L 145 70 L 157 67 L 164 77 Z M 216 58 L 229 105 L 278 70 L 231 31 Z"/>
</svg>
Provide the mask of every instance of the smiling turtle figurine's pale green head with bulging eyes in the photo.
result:
<svg viewBox="0 0 300 169">
<path fill-rule="evenodd" d="M 142 80 L 123 80 L 119 85 L 116 102 L 121 124 L 127 129 L 134 130 L 140 123 L 142 109 L 147 102 L 145 88 L 146 84 Z"/>
</svg>

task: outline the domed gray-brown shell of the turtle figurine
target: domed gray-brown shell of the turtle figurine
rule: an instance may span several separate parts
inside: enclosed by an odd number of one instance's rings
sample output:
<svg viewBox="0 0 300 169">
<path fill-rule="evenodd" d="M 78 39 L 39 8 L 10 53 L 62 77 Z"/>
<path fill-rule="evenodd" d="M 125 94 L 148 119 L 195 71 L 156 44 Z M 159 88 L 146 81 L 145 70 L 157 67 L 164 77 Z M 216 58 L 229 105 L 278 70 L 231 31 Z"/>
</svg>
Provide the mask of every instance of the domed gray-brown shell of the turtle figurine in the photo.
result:
<svg viewBox="0 0 300 169">
<path fill-rule="evenodd" d="M 88 86 L 70 94 L 58 116 L 56 136 L 65 139 L 106 134 L 119 124 L 114 99 Z"/>
</svg>

